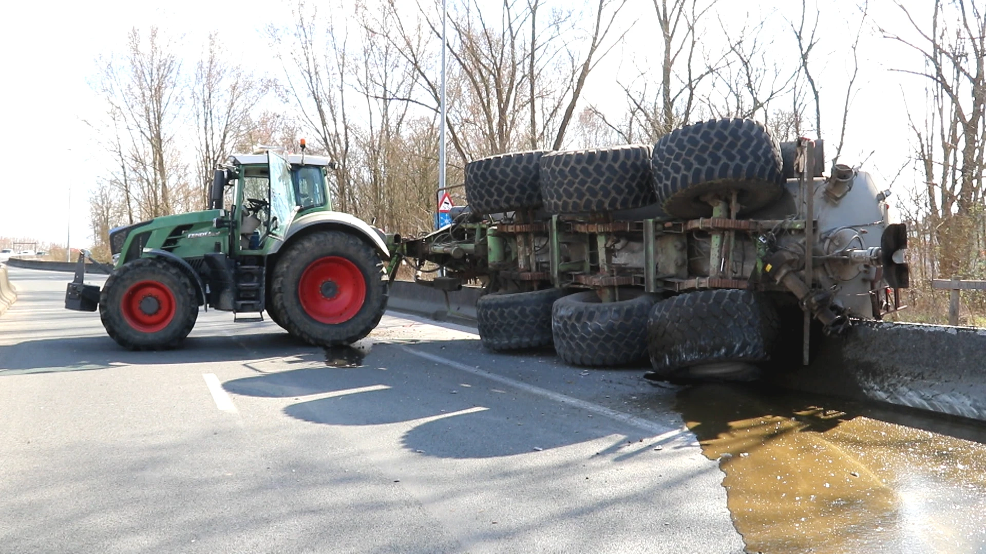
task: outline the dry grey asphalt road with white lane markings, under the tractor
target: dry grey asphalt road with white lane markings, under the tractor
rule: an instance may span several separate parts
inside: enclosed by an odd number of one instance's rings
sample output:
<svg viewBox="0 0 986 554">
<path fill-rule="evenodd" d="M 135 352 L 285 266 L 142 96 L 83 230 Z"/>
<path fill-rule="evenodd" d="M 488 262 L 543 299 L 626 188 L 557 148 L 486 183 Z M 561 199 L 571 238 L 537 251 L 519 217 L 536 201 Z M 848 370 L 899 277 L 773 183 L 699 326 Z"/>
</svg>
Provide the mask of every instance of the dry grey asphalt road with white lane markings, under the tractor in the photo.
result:
<svg viewBox="0 0 986 554">
<path fill-rule="evenodd" d="M 743 549 L 719 462 L 639 370 L 395 313 L 355 350 L 202 312 L 182 349 L 128 352 L 62 308 L 69 274 L 10 277 L 0 551 Z"/>
</svg>

